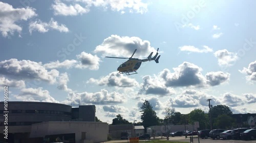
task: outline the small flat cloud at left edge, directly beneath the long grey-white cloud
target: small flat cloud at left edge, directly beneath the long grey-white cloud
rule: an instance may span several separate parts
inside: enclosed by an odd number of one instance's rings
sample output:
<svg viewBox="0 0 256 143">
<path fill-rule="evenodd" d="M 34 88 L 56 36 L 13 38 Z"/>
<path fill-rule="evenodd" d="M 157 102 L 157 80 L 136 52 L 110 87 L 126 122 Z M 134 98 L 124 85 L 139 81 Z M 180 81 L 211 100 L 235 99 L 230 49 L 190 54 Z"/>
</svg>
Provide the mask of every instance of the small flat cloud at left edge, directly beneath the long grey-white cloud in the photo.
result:
<svg viewBox="0 0 256 143">
<path fill-rule="evenodd" d="M 23 89 L 26 87 L 24 80 L 9 80 L 5 77 L 0 77 L 0 85 L 1 87 L 7 85 L 8 87 L 14 87 L 19 89 Z"/>
</svg>

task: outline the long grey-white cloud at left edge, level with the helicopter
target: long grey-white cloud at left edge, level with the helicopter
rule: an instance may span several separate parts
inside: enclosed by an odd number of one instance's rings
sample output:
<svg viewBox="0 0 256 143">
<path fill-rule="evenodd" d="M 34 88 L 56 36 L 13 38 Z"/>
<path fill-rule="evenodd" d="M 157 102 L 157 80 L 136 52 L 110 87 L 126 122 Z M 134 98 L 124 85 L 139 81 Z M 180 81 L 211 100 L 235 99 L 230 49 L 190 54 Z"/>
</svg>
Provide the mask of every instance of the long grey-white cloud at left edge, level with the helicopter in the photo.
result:
<svg viewBox="0 0 256 143">
<path fill-rule="evenodd" d="M 18 61 L 10 59 L 0 62 L 0 74 L 13 77 L 15 79 L 39 79 L 49 83 L 55 83 L 59 72 L 55 69 L 46 70 L 39 62 L 29 60 Z"/>
</svg>

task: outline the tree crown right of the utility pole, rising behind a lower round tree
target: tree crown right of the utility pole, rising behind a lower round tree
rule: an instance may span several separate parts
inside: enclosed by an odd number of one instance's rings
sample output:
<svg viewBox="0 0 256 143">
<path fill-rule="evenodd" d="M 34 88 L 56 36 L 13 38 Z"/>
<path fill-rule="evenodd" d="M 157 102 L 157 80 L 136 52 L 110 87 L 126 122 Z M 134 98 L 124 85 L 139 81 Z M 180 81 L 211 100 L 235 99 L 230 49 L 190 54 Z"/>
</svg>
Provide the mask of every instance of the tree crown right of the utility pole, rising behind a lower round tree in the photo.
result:
<svg viewBox="0 0 256 143">
<path fill-rule="evenodd" d="M 211 118 L 217 118 L 219 115 L 231 115 L 233 112 L 230 110 L 230 108 L 226 105 L 216 105 L 211 108 Z"/>
</svg>

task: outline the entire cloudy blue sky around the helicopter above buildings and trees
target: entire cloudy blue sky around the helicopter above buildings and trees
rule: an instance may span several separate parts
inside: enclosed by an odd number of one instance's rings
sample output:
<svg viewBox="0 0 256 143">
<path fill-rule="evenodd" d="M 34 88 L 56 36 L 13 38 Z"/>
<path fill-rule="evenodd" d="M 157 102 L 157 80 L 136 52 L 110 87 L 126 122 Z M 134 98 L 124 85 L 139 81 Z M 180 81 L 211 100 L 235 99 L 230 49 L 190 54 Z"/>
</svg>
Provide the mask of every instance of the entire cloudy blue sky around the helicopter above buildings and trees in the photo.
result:
<svg viewBox="0 0 256 143">
<path fill-rule="evenodd" d="M 96 116 L 112 123 L 120 113 L 140 121 L 149 100 L 163 118 L 228 105 L 255 113 L 255 1 L 1 1 L 0 84 L 10 101 L 77 106 L 96 100 Z M 129 45 L 129 46 L 128 46 Z M 138 74 L 119 74 L 125 59 Z M 3 89 L 1 89 L 3 91 Z"/>
</svg>

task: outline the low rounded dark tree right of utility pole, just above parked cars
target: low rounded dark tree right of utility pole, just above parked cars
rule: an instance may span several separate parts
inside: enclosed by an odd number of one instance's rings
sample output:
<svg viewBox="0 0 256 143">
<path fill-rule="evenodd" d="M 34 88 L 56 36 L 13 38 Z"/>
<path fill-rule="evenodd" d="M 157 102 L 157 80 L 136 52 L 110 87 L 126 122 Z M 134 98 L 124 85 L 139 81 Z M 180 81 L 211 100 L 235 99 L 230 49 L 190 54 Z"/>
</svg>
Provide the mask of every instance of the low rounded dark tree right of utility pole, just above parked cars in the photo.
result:
<svg viewBox="0 0 256 143">
<path fill-rule="evenodd" d="M 236 120 L 226 114 L 219 115 L 214 122 L 215 128 L 231 129 L 236 124 Z"/>
</svg>

